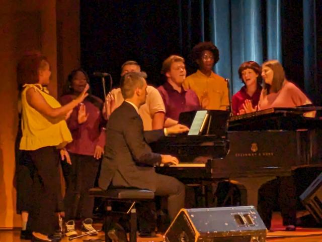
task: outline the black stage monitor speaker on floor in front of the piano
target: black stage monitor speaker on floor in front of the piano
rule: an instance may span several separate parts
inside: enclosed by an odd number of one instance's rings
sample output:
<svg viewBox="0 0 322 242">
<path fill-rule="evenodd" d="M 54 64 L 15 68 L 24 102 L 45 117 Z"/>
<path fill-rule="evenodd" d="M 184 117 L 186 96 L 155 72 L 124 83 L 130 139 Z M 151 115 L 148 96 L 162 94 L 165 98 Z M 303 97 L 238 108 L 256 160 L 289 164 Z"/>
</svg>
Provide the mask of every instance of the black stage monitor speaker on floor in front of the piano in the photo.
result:
<svg viewBox="0 0 322 242">
<path fill-rule="evenodd" d="M 267 229 L 254 206 L 181 209 L 166 242 L 265 242 Z"/>
</svg>

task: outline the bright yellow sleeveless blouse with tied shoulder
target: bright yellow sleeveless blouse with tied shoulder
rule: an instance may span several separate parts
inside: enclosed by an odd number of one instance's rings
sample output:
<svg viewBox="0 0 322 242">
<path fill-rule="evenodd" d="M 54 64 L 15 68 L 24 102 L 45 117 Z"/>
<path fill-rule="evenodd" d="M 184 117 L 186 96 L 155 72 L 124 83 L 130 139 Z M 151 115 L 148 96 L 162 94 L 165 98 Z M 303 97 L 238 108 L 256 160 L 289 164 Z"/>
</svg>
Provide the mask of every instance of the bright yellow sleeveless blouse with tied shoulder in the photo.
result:
<svg viewBox="0 0 322 242">
<path fill-rule="evenodd" d="M 60 103 L 40 84 L 25 84 L 21 93 L 22 102 L 22 138 L 20 150 L 33 151 L 47 146 L 64 147 L 72 141 L 71 134 L 67 128 L 65 120 L 54 120 L 43 116 L 27 102 L 26 92 L 29 88 L 34 88 L 45 98 L 47 103 L 53 107 L 60 107 Z M 47 91 L 48 92 L 48 91 Z"/>
</svg>

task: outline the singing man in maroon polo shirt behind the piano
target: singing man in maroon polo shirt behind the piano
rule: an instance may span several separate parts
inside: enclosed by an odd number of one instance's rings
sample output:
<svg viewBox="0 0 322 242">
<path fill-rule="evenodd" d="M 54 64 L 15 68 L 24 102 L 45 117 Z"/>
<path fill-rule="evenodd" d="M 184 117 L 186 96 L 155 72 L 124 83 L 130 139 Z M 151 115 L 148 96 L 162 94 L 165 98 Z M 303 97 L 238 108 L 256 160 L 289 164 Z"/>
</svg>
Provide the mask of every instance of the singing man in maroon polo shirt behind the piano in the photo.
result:
<svg viewBox="0 0 322 242">
<path fill-rule="evenodd" d="M 163 62 L 162 73 L 167 81 L 157 89 L 166 107 L 165 127 L 169 127 L 178 124 L 180 112 L 199 110 L 200 104 L 196 93 L 182 86 L 187 74 L 184 58 L 177 55 L 168 57 Z"/>
</svg>

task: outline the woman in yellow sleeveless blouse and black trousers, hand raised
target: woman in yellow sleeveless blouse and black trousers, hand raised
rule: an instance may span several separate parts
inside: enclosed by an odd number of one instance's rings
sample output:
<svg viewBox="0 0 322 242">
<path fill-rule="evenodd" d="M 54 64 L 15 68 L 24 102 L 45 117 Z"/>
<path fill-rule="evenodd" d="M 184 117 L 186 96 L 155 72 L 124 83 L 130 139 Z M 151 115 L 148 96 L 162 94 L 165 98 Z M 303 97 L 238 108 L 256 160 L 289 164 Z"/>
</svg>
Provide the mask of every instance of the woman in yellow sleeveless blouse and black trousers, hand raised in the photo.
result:
<svg viewBox="0 0 322 242">
<path fill-rule="evenodd" d="M 18 64 L 17 81 L 22 101 L 22 138 L 20 150 L 25 150 L 33 179 L 32 207 L 29 213 L 32 241 L 54 241 L 60 197 L 59 153 L 70 162 L 63 147 L 72 141 L 65 118 L 88 95 L 88 86 L 71 102 L 61 106 L 44 87 L 49 84 L 50 66 L 45 56 L 31 53 Z"/>
</svg>

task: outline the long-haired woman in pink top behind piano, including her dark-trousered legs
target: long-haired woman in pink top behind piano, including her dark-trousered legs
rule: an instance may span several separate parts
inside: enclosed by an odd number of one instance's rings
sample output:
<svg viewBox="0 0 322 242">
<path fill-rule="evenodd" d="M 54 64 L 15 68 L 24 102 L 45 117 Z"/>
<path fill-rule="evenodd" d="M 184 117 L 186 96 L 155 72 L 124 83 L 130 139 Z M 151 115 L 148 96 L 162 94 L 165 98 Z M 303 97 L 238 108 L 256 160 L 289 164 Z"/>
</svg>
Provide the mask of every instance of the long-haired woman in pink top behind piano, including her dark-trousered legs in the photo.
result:
<svg viewBox="0 0 322 242">
<path fill-rule="evenodd" d="M 262 77 L 264 87 L 258 110 L 272 107 L 295 107 L 311 103 L 298 87 L 285 78 L 284 69 L 277 60 L 270 60 L 262 65 Z M 247 109 L 248 112 L 257 110 L 250 105 Z M 279 207 L 286 230 L 295 230 L 295 194 L 293 176 L 278 177 L 261 186 L 258 193 L 258 211 L 268 229 L 271 227 L 272 211 Z"/>
</svg>

